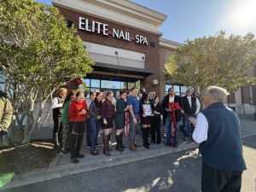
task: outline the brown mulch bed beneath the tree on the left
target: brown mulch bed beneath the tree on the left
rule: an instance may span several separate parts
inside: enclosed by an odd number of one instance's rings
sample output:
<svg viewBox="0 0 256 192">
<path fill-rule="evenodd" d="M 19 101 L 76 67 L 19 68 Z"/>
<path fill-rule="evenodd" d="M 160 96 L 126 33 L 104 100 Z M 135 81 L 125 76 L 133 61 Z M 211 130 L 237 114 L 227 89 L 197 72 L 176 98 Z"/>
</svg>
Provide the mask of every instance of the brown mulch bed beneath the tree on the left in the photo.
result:
<svg viewBox="0 0 256 192">
<path fill-rule="evenodd" d="M 52 140 L 34 140 L 29 144 L 0 148 L 0 175 L 44 168 L 59 151 Z"/>
</svg>

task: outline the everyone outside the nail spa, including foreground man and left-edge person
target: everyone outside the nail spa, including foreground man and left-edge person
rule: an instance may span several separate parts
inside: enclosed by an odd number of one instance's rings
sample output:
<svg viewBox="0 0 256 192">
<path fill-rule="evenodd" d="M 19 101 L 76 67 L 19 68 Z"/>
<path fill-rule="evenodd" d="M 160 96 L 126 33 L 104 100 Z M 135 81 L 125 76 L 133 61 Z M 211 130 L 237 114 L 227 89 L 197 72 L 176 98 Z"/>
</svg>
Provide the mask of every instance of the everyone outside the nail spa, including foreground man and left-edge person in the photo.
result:
<svg viewBox="0 0 256 192">
<path fill-rule="evenodd" d="M 67 92 L 61 88 L 57 91 L 52 105 L 55 145 L 62 146 L 62 152 L 67 152 L 68 148 L 72 162 L 78 163 L 78 158 L 84 157 L 80 154 L 80 148 L 87 124 L 87 128 L 90 128 L 90 153 L 98 154 L 97 134 L 102 128 L 104 154 L 110 155 L 109 138 L 115 122 L 119 151 L 125 148 L 122 138 L 127 123 L 130 125 L 130 149 L 137 149 L 135 135 L 139 124 L 142 125 L 143 146 L 149 148 L 149 130 L 151 142 L 155 142 L 154 134 L 157 132 L 156 141 L 160 144 L 160 113 L 163 113 L 166 117 L 166 145 L 175 146 L 178 141 L 176 123 L 183 116 L 185 126 L 191 127 L 192 124 L 195 127 L 191 134 L 195 142 L 200 143 L 201 191 L 239 192 L 241 175 L 247 167 L 242 154 L 240 120 L 232 109 L 224 105 L 228 92 L 217 86 L 208 87 L 202 94 L 202 101 L 207 108 L 201 112 L 198 98 L 192 92 L 192 89 L 188 89 L 186 96 L 179 97 L 170 88 L 168 95 L 160 102 L 158 96 L 152 98 L 146 93 L 139 100 L 138 90 L 134 88 L 131 93 L 120 92 L 118 101 L 113 102 L 112 91 L 108 91 L 105 98 L 102 92 L 97 91 L 91 92 L 90 101 L 86 102 L 83 92 Z M 7 95 L 0 91 L 0 137 L 8 135 L 12 113 Z M 188 128 L 185 128 L 185 138 L 189 134 Z"/>
</svg>

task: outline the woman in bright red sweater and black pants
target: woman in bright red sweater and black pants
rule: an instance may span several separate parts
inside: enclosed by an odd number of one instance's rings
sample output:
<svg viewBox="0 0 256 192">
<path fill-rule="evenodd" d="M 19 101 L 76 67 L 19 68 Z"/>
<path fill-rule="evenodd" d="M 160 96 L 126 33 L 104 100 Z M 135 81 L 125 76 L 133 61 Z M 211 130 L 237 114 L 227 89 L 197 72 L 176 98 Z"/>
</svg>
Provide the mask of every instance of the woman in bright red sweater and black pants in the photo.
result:
<svg viewBox="0 0 256 192">
<path fill-rule="evenodd" d="M 84 94 L 78 91 L 68 108 L 69 129 L 71 133 L 69 136 L 69 148 L 73 163 L 79 162 L 77 158 L 84 158 L 84 155 L 80 154 L 80 148 L 83 142 L 87 114 L 89 114 L 89 111 L 84 100 Z"/>
</svg>

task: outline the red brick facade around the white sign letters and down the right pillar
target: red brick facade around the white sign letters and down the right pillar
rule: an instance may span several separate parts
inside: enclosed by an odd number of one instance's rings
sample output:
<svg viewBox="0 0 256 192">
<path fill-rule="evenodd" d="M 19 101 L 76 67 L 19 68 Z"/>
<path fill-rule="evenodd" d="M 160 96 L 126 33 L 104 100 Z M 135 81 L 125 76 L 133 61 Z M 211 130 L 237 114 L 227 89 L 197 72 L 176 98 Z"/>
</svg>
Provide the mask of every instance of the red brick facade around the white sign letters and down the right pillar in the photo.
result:
<svg viewBox="0 0 256 192">
<path fill-rule="evenodd" d="M 77 35 L 79 35 L 79 37 L 82 38 L 84 42 L 102 44 L 118 49 L 127 49 L 145 54 L 145 67 L 148 69 L 153 69 L 155 73 L 154 75 L 151 75 L 143 80 L 143 86 L 148 91 L 155 90 L 157 94 L 160 94 L 160 87 L 152 86 L 153 79 L 160 79 L 159 35 L 150 32 L 143 32 L 142 30 L 137 30 L 135 28 L 131 28 L 128 26 L 122 26 L 108 20 L 102 20 L 96 17 L 92 17 L 90 15 L 84 15 L 73 10 L 64 9 L 60 7 L 58 7 L 58 9 L 60 10 L 61 15 L 63 15 L 66 20 L 73 21 L 74 27 L 78 29 Z M 79 30 L 79 17 L 84 17 L 89 20 L 96 20 L 108 24 L 108 34 L 112 34 L 113 28 L 122 30 L 124 32 L 130 32 L 131 42 L 119 38 L 113 38 L 112 35 L 104 36 L 103 34 L 81 31 Z M 137 34 L 147 38 L 148 46 L 135 43 L 134 37 Z M 150 42 L 154 42 L 154 47 L 150 46 Z"/>
</svg>

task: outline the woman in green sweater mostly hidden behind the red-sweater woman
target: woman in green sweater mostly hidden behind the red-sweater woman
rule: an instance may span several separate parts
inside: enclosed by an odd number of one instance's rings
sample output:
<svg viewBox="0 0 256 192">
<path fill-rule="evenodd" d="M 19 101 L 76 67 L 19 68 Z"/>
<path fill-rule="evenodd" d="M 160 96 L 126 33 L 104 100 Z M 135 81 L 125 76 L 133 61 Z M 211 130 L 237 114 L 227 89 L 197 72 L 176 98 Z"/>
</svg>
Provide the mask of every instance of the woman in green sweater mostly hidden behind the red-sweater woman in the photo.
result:
<svg viewBox="0 0 256 192">
<path fill-rule="evenodd" d="M 62 111 L 61 111 L 61 122 L 62 122 L 62 125 L 63 125 L 61 154 L 68 154 L 69 153 L 69 150 L 68 150 L 68 136 L 69 136 L 68 108 L 69 108 L 70 102 L 73 100 L 74 93 L 75 93 L 75 90 L 71 90 L 67 93 L 67 96 L 65 98 L 65 101 L 63 102 L 63 108 L 62 108 Z"/>
</svg>

